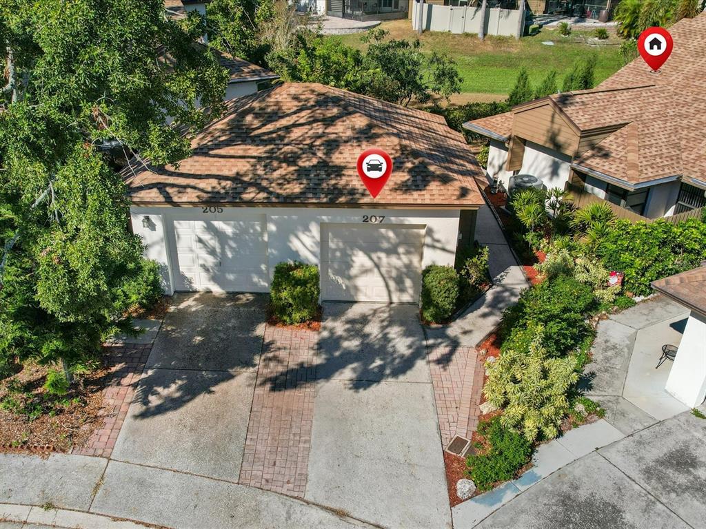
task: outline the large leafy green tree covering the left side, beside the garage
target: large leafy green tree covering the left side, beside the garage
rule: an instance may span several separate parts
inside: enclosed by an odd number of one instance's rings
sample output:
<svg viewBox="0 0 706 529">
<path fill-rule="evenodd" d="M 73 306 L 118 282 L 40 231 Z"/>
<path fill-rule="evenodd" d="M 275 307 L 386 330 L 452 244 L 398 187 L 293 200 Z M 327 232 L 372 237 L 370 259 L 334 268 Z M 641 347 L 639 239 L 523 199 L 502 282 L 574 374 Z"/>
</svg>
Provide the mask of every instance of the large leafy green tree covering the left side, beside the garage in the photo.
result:
<svg viewBox="0 0 706 529">
<path fill-rule="evenodd" d="M 0 364 L 76 363 L 154 295 L 106 152 L 189 155 L 227 82 L 204 30 L 162 0 L 0 3 Z"/>
</svg>

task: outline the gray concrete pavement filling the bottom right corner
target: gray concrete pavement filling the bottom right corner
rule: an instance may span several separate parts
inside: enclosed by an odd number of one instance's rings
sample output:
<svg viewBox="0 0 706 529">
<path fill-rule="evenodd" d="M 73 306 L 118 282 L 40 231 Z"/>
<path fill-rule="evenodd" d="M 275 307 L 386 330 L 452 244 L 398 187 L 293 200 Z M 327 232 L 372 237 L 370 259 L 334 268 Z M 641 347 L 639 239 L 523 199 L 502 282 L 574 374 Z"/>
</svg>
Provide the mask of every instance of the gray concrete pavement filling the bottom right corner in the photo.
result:
<svg viewBox="0 0 706 529">
<path fill-rule="evenodd" d="M 704 528 L 705 442 L 706 420 L 681 413 L 590 451 L 487 511 L 482 521 L 465 516 L 465 504 L 455 507 L 454 527 Z M 511 485 L 493 491 L 486 506 Z"/>
</svg>

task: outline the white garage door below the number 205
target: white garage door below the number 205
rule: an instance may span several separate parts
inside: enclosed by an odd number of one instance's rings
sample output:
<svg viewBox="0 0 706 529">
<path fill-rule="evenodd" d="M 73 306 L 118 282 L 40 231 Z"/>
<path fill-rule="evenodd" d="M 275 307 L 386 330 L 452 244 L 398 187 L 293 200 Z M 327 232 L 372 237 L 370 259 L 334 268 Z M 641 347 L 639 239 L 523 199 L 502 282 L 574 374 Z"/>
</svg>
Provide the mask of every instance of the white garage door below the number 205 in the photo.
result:
<svg viewBox="0 0 706 529">
<path fill-rule="evenodd" d="M 175 220 L 177 290 L 268 290 L 265 221 Z"/>
</svg>

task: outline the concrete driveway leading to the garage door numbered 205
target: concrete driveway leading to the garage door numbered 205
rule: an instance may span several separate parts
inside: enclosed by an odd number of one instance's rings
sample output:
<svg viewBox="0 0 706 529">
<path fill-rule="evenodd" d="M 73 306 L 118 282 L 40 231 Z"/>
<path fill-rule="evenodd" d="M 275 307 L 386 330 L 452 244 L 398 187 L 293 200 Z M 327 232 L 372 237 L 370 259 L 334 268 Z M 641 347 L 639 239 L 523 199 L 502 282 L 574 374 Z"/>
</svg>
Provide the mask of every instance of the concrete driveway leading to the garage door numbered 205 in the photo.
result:
<svg viewBox="0 0 706 529">
<path fill-rule="evenodd" d="M 264 303 L 249 294 L 175 296 L 112 458 L 237 482 Z"/>
</svg>

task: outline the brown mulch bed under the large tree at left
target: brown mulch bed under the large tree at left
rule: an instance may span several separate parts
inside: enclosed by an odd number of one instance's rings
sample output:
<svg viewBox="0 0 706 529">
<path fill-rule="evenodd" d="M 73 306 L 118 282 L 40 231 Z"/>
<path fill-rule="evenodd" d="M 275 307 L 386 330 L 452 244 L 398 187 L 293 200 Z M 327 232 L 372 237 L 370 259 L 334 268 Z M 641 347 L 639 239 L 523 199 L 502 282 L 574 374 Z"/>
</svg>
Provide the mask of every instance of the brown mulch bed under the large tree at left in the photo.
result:
<svg viewBox="0 0 706 529">
<path fill-rule="evenodd" d="M 77 375 L 62 397 L 46 394 L 47 371 L 47 366 L 27 363 L 16 375 L 0 380 L 0 452 L 68 452 L 85 446 L 102 422 L 106 368 Z"/>
</svg>

